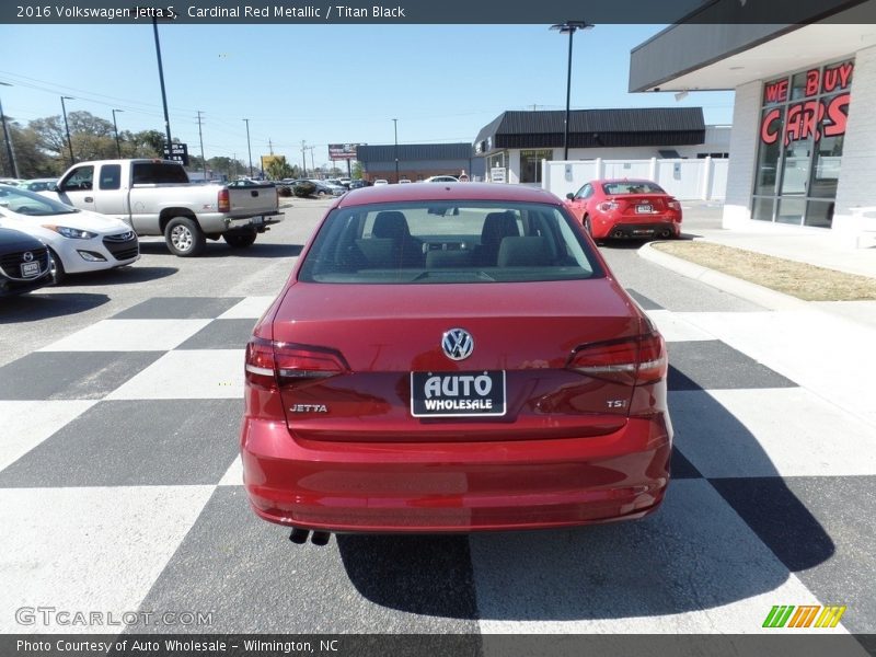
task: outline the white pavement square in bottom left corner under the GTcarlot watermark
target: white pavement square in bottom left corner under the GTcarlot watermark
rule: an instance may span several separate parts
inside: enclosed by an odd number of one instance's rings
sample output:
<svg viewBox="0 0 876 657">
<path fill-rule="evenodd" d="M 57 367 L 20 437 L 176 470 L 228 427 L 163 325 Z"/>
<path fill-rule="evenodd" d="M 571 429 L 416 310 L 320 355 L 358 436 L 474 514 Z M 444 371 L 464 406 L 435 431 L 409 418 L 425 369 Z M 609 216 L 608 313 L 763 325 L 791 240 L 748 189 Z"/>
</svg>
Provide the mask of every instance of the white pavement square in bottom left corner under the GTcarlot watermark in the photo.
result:
<svg viewBox="0 0 876 657">
<path fill-rule="evenodd" d="M 20 625 L 21 607 L 138 611 L 212 486 L 0 489 L 0 632 L 117 633 L 118 626 Z M 71 618 L 71 616 L 68 616 Z M 85 618 L 89 618 L 88 615 Z"/>
</svg>

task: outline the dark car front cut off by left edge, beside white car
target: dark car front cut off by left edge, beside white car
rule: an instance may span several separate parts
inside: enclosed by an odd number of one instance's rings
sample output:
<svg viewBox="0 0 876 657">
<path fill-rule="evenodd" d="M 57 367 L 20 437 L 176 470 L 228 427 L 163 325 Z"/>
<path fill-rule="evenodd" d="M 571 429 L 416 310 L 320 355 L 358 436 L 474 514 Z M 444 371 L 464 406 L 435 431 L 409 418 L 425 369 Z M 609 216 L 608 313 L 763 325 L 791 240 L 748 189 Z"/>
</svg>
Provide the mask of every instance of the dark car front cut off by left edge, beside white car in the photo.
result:
<svg viewBox="0 0 876 657">
<path fill-rule="evenodd" d="M 0 297 L 23 295 L 51 281 L 46 245 L 27 233 L 0 228 Z"/>
</svg>

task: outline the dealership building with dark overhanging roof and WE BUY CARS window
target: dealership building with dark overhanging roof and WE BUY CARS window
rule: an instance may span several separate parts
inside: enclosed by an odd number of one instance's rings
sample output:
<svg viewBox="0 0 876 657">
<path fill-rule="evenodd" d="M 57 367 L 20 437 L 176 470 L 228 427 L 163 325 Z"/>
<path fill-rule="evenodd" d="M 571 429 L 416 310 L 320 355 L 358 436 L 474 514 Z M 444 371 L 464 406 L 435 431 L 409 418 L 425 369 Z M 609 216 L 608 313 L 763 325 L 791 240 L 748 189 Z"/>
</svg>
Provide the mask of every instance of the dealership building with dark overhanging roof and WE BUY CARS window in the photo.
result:
<svg viewBox="0 0 876 657">
<path fill-rule="evenodd" d="M 830 230 L 866 245 L 876 234 L 876 4 L 826 0 L 817 22 L 795 24 L 745 23 L 745 3 L 717 4 L 739 22 L 710 19 L 716 3 L 705 3 L 641 44 L 630 91 L 736 92 L 725 228 Z"/>
</svg>

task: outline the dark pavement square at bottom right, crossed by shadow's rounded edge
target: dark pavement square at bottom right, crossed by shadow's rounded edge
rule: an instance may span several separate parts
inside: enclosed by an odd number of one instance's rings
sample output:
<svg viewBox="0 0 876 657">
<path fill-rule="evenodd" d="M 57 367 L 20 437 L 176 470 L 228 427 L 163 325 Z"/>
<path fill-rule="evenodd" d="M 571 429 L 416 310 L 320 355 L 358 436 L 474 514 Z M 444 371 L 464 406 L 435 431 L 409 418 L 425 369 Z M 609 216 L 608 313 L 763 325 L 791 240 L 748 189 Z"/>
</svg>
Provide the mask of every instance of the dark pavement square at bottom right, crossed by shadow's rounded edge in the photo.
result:
<svg viewBox="0 0 876 657">
<path fill-rule="evenodd" d="M 822 604 L 848 607 L 850 632 L 876 633 L 876 475 L 710 482 Z"/>
</svg>

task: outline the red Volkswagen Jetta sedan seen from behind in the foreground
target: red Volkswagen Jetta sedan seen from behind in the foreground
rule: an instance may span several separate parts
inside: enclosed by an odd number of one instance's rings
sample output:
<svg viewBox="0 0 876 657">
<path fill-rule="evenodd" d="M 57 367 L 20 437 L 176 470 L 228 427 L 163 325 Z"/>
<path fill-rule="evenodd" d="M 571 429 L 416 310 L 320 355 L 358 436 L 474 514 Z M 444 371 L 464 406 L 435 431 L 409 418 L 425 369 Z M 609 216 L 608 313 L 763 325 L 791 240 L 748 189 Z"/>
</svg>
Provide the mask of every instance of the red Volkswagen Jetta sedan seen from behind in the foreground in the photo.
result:
<svg viewBox="0 0 876 657">
<path fill-rule="evenodd" d="M 247 345 L 244 483 L 295 542 L 641 518 L 669 481 L 666 376 L 555 196 L 356 189 Z"/>
</svg>

